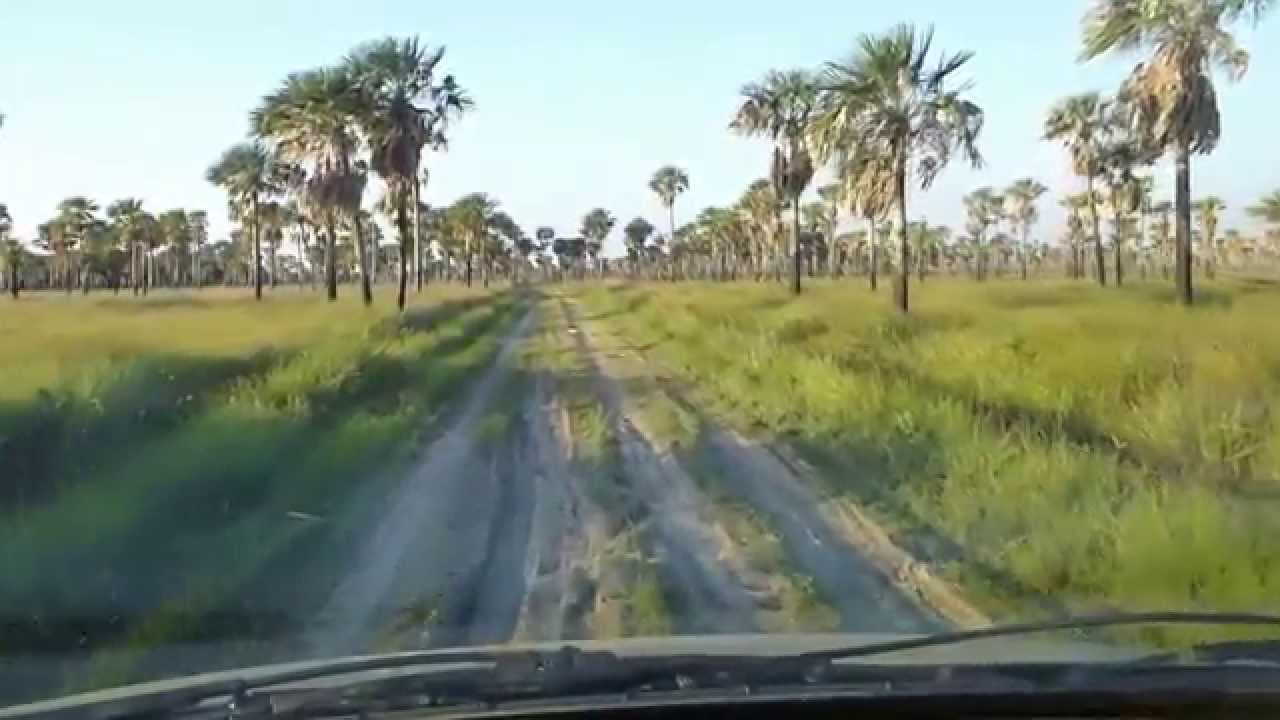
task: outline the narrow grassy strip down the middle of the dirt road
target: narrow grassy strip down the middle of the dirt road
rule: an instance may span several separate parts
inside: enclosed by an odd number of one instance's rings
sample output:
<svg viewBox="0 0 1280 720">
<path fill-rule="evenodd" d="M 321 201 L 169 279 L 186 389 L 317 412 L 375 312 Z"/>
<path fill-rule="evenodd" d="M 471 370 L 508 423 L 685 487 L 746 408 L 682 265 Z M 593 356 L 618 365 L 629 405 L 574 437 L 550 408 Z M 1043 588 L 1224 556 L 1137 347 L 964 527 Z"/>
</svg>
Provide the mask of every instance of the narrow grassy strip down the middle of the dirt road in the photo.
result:
<svg viewBox="0 0 1280 720">
<path fill-rule="evenodd" d="M 570 579 L 571 619 L 576 634 L 608 639 L 663 637 L 673 619 L 646 538 L 645 509 L 630 496 L 613 419 L 599 401 L 591 369 L 573 346 L 558 304 L 539 305 L 541 332 L 530 345 L 527 364 L 544 374 L 566 414 L 571 471 L 584 483 L 590 512 L 603 516 L 603 537 L 591 538 Z M 572 633 L 571 633 L 572 634 Z"/>
</svg>

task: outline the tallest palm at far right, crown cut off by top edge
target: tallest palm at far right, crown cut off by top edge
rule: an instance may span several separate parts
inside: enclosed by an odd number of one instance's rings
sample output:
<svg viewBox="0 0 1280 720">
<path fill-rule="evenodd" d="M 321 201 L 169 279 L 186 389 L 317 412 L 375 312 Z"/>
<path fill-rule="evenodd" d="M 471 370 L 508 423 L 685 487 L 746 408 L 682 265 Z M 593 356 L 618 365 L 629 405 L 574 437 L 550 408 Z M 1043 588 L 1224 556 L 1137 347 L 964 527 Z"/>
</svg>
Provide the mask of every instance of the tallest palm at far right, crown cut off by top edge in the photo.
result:
<svg viewBox="0 0 1280 720">
<path fill-rule="evenodd" d="M 1226 27 L 1254 22 L 1270 0 L 1094 0 L 1085 17 L 1083 60 L 1111 51 L 1151 53 L 1124 83 L 1144 143 L 1174 152 L 1176 286 L 1192 304 L 1190 155 L 1213 151 L 1221 135 L 1213 69 L 1239 79 L 1249 55 Z"/>
</svg>

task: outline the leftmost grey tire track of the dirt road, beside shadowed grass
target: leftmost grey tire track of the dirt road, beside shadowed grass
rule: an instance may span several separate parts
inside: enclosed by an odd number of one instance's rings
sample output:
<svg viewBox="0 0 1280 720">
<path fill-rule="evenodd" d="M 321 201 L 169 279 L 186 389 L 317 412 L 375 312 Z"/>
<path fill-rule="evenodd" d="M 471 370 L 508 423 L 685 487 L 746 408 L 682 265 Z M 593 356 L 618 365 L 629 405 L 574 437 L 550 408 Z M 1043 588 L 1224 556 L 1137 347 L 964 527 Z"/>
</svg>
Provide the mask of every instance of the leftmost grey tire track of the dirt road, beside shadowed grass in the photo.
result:
<svg viewBox="0 0 1280 720">
<path fill-rule="evenodd" d="M 314 655 L 365 652 L 387 642 L 439 644 L 467 638 L 472 625 L 477 635 L 495 637 L 515 626 L 522 574 L 499 582 L 497 573 L 512 565 L 507 544 L 520 543 L 515 511 L 529 505 L 527 495 L 518 495 L 526 488 L 499 469 L 509 462 L 477 451 L 475 429 L 512 377 L 512 356 L 532 319 L 526 311 L 503 338 L 448 430 L 387 497 L 378 527 L 307 632 Z M 513 515 L 515 527 L 507 527 Z M 494 559 L 497 569 L 486 577 Z"/>
</svg>

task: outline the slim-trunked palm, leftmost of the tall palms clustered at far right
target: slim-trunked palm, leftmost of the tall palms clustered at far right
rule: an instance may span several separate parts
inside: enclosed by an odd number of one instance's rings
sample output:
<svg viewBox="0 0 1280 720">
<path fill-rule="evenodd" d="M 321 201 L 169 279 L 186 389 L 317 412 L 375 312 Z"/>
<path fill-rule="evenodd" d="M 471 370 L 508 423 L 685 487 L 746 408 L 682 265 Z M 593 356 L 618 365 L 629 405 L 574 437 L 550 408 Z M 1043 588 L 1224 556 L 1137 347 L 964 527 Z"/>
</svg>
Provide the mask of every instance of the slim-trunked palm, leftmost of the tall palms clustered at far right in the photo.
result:
<svg viewBox="0 0 1280 720">
<path fill-rule="evenodd" d="M 1097 92 L 1066 97 L 1048 111 L 1044 120 L 1044 140 L 1061 141 L 1071 155 L 1071 168 L 1084 177 L 1084 192 L 1089 201 L 1089 220 L 1093 228 L 1093 255 L 1097 263 L 1098 283 L 1107 284 L 1106 258 L 1102 254 L 1102 220 L 1094 199 L 1093 181 L 1102 173 L 1101 158 L 1103 136 L 1107 132 L 1108 102 Z"/>
</svg>

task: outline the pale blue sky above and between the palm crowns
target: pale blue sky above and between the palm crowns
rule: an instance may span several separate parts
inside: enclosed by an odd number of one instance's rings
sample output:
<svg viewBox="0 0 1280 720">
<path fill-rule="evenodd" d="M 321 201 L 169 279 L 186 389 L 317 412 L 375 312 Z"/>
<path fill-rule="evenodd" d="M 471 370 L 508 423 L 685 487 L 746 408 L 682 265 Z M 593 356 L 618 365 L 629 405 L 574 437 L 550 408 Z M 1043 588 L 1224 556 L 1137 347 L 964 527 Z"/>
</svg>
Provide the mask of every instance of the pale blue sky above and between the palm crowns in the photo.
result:
<svg viewBox="0 0 1280 720">
<path fill-rule="evenodd" d="M 737 90 L 772 67 L 845 55 L 855 36 L 900 20 L 934 23 L 937 45 L 972 49 L 973 97 L 987 110 L 987 167 L 948 168 L 913 197 L 913 218 L 963 224 L 960 196 L 1034 176 L 1075 187 L 1064 152 L 1039 140 L 1062 95 L 1110 91 L 1129 59 L 1075 61 L 1083 0 L 3 0 L 0 202 L 20 236 L 68 195 L 122 196 L 154 211 L 204 208 L 225 234 L 223 195 L 205 168 L 244 136 L 246 115 L 291 70 L 332 63 L 383 35 L 448 46 L 448 72 L 476 109 L 447 154 L 429 156 L 428 200 L 485 191 L 530 232 L 576 232 L 593 206 L 667 222 L 646 188 L 666 163 L 689 170 L 677 213 L 732 202 L 764 173 L 767 149 L 726 131 Z M 1220 83 L 1224 141 L 1197 159 L 1194 193 L 1226 199 L 1229 225 L 1280 187 L 1268 127 L 1280 78 L 1280 17 L 1238 37 L 1243 83 Z M 1167 169 L 1160 192 L 1171 186 Z M 370 191 L 371 201 L 375 191 Z M 1056 236 L 1056 197 L 1039 233 Z M 614 231 L 617 234 L 618 231 Z"/>
</svg>

